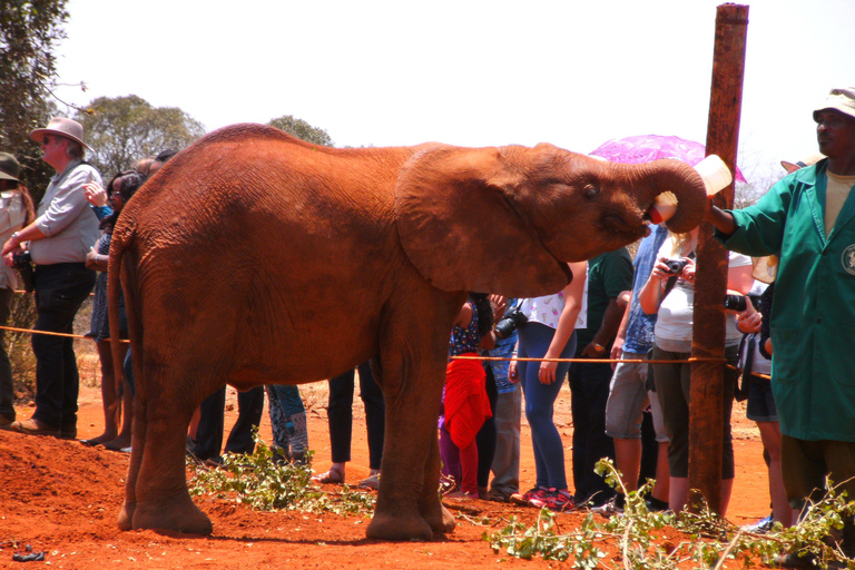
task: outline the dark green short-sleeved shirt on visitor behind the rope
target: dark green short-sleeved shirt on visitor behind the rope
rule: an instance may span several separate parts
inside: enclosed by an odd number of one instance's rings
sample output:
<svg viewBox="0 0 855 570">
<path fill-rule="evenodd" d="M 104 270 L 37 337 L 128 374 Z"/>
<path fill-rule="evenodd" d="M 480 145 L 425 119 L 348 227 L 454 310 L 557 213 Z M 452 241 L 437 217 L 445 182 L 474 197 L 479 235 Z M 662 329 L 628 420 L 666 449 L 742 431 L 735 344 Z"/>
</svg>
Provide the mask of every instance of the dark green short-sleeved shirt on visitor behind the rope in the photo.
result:
<svg viewBox="0 0 855 570">
<path fill-rule="evenodd" d="M 602 316 L 609 301 L 617 298 L 622 291 L 632 289 L 632 258 L 626 247 L 600 254 L 588 261 L 588 318 L 587 328 L 576 330 L 576 355 L 593 341 L 602 324 Z M 611 351 L 609 338 L 605 346 L 606 354 Z"/>
</svg>

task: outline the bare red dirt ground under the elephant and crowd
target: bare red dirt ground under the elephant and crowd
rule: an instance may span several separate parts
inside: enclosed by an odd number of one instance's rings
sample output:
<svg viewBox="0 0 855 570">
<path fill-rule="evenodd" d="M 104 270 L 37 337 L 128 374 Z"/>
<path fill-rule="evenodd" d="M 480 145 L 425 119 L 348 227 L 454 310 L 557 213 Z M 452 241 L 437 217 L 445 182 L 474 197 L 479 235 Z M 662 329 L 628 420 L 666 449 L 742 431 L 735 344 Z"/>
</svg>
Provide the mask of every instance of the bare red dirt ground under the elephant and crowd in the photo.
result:
<svg viewBox="0 0 855 570">
<path fill-rule="evenodd" d="M 326 383 L 302 387 L 308 407 L 309 445 L 316 450 L 315 470 L 330 465 L 326 424 Z M 233 392 L 229 389 L 229 392 Z M 229 394 L 232 397 L 232 394 Z M 358 400 L 357 400 L 358 402 Z M 226 429 L 234 422 L 234 405 L 227 411 Z M 18 410 L 29 417 L 32 410 Z M 348 482 L 367 475 L 364 415 L 354 405 L 354 461 Z M 556 413 L 570 456 L 570 394 L 566 389 Z M 524 420 L 523 420 L 524 421 Z M 78 436 L 100 434 L 102 413 L 98 389 L 81 387 Z M 728 519 L 745 524 L 769 512 L 766 466 L 759 435 L 745 419 L 745 409 L 734 410 L 737 478 Z M 261 430 L 271 441 L 265 411 Z M 528 426 L 522 436 L 522 487 L 533 483 L 534 466 Z M 569 462 L 569 459 L 568 459 Z M 131 568 L 569 568 L 542 559 L 522 561 L 494 554 L 481 540 L 484 530 L 503 528 L 511 515 L 531 523 L 534 510 L 487 501 L 469 503 L 478 517 L 494 521 L 492 529 L 460 518 L 456 530 L 431 542 L 380 542 L 365 538 L 367 519 L 311 513 L 254 512 L 224 500 L 196 499 L 214 522 L 210 537 L 163 534 L 153 531 L 120 532 L 116 515 L 124 495 L 128 455 L 85 448 L 75 441 L 37 438 L 0 431 L 0 568 L 27 568 L 12 561 L 14 552 L 29 544 L 43 551 L 52 568 L 116 570 Z M 570 469 L 568 464 L 568 475 Z M 332 487 L 330 488 L 333 489 Z M 454 511 L 452 511 L 454 512 Z M 563 529 L 578 528 L 582 513 L 558 517 Z M 36 562 L 37 564 L 39 562 Z M 606 559 L 620 568 L 617 558 Z"/>
</svg>

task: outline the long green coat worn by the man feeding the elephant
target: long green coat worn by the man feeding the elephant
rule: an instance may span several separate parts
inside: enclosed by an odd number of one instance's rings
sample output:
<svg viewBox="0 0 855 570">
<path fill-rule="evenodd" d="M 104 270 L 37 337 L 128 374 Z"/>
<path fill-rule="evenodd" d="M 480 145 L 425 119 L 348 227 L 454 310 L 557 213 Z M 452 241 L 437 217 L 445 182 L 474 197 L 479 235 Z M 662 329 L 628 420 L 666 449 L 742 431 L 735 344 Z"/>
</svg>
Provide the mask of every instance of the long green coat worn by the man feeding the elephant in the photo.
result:
<svg viewBox="0 0 855 570">
<path fill-rule="evenodd" d="M 826 163 L 731 214 L 725 247 L 780 258 L 772 304 L 773 392 L 782 433 L 855 442 L 855 193 L 825 236 Z"/>
</svg>

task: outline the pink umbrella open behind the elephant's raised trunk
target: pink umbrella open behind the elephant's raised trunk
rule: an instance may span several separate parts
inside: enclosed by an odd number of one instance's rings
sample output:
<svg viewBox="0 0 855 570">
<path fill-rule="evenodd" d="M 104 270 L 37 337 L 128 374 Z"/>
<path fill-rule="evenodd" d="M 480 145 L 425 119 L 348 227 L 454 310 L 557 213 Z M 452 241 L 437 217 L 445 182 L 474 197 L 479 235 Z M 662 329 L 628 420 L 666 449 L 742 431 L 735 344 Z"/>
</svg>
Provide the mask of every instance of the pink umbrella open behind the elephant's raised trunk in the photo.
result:
<svg viewBox="0 0 855 570">
<path fill-rule="evenodd" d="M 602 157 L 612 163 L 631 165 L 662 158 L 676 158 L 691 166 L 700 163 L 707 156 L 706 149 L 700 142 L 661 135 L 641 135 L 611 139 L 597 147 L 591 155 Z M 740 183 L 746 181 L 738 167 L 736 169 L 736 179 Z"/>
</svg>

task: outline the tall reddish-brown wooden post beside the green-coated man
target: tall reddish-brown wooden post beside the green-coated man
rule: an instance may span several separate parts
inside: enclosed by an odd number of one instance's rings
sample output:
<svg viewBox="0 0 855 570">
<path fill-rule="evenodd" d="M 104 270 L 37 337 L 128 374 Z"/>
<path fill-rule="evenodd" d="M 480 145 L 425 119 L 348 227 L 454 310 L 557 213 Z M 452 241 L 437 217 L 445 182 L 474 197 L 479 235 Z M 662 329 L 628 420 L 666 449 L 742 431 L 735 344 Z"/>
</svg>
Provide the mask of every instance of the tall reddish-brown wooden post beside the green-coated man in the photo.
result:
<svg viewBox="0 0 855 570">
<path fill-rule="evenodd" d="M 736 173 L 747 29 L 747 6 L 721 4 L 717 8 L 706 147 L 707 155 L 718 155 L 731 173 Z M 719 193 L 715 204 L 723 208 L 733 207 L 733 183 Z M 692 356 L 698 358 L 723 361 L 725 356 L 727 258 L 725 248 L 712 238 L 712 226 L 702 224 L 698 236 L 691 345 Z M 689 488 L 700 491 L 710 509 L 718 513 L 721 512 L 725 377 L 724 362 L 695 362 L 691 365 Z M 699 501 L 700 497 L 692 494 L 689 508 L 697 512 Z"/>
</svg>

